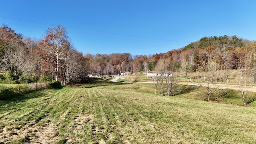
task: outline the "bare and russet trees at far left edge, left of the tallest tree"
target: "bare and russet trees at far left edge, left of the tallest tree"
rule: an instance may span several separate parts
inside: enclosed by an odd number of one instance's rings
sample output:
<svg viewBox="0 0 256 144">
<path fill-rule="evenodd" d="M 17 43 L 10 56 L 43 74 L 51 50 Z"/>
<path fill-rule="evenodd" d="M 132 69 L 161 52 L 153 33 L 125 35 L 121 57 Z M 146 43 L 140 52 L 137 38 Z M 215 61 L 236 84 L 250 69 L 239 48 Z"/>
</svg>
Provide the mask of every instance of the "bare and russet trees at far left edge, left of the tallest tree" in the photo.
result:
<svg viewBox="0 0 256 144">
<path fill-rule="evenodd" d="M 30 60 L 28 47 L 22 36 L 17 34 L 8 26 L 0 28 L 0 71 L 7 72 L 8 82 L 21 83 L 24 80 L 24 74 L 31 74 L 34 70 L 33 61 Z M 29 82 L 30 80 L 26 80 Z"/>
</svg>

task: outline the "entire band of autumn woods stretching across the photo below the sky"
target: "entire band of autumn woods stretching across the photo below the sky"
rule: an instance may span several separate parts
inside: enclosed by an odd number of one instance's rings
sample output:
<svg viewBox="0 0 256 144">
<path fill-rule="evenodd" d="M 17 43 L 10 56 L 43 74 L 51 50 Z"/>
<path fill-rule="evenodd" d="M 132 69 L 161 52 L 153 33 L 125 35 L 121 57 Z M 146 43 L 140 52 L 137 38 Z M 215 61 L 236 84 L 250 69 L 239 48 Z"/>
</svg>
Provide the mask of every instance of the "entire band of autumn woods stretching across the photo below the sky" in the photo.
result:
<svg viewBox="0 0 256 144">
<path fill-rule="evenodd" d="M 88 74 L 116 75 L 130 71 L 208 72 L 218 81 L 229 81 L 230 70 L 240 70 L 256 82 L 256 42 L 237 36 L 204 37 L 178 50 L 153 55 L 130 53 L 82 54 L 73 48 L 64 26 L 48 28 L 42 39 L 24 39 L 22 34 L 0 28 L 0 81 L 30 83 L 85 82 Z M 164 65 L 166 64 L 166 65 Z M 161 65 L 161 66 L 160 66 Z M 224 70 L 224 74 L 218 71 Z"/>
</svg>

